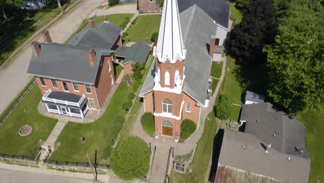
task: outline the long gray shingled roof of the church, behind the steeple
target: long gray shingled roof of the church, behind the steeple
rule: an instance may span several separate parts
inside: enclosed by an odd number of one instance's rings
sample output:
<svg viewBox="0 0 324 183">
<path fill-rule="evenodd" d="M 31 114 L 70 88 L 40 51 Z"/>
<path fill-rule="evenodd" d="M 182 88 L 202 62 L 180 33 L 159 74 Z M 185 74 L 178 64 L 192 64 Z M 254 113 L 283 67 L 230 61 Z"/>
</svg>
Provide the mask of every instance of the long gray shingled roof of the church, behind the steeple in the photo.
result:
<svg viewBox="0 0 324 183">
<path fill-rule="evenodd" d="M 207 44 L 211 35 L 215 35 L 216 24 L 199 6 L 191 6 L 180 14 L 183 42 L 187 49 L 185 63 L 185 84 L 183 92 L 201 105 L 206 101 L 206 89 L 210 77 L 212 60 Z M 147 75 L 140 96 L 144 97 L 154 87 L 154 67 Z"/>
</svg>

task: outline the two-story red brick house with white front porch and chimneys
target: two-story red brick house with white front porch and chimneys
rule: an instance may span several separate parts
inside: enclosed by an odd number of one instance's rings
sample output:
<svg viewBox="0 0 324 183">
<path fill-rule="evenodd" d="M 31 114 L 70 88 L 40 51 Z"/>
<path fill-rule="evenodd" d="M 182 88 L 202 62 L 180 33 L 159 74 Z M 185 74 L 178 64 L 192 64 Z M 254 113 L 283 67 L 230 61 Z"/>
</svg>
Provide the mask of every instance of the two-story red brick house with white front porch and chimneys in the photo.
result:
<svg viewBox="0 0 324 183">
<path fill-rule="evenodd" d="M 35 76 L 48 112 L 82 119 L 88 110 L 99 112 L 115 82 L 114 51 L 107 48 L 118 45 L 120 34 L 107 34 L 109 39 L 88 46 L 98 35 L 95 31 L 89 30 L 75 45 L 53 43 L 48 31 L 42 35 L 44 43 L 31 44 L 33 55 L 27 73 Z"/>
</svg>

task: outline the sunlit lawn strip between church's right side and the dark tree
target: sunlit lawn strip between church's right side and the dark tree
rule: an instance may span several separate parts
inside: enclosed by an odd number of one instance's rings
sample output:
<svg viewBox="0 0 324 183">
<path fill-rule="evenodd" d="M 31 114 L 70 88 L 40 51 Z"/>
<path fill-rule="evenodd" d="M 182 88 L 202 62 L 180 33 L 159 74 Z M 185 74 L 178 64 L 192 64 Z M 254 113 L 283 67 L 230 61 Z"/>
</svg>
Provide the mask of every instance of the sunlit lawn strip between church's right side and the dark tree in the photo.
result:
<svg viewBox="0 0 324 183">
<path fill-rule="evenodd" d="M 228 63 L 226 68 L 226 76 L 224 80 L 224 85 L 222 86 L 222 93 L 228 94 L 231 97 L 232 102 L 241 105 L 241 96 L 245 92 L 241 87 L 240 82 L 235 76 L 235 69 L 237 65 L 235 60 L 228 56 Z"/>
</svg>

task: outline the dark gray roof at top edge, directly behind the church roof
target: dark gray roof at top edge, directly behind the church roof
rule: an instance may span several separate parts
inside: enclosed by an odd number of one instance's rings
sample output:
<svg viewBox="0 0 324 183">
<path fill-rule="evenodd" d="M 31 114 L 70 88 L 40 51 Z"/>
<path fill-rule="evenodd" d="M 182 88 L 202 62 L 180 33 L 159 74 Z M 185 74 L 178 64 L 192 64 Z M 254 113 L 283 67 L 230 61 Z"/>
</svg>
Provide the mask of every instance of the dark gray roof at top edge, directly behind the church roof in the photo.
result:
<svg viewBox="0 0 324 183">
<path fill-rule="evenodd" d="M 178 4 L 180 13 L 197 4 L 217 24 L 226 29 L 228 28 L 230 6 L 224 0 L 178 0 Z"/>
</svg>

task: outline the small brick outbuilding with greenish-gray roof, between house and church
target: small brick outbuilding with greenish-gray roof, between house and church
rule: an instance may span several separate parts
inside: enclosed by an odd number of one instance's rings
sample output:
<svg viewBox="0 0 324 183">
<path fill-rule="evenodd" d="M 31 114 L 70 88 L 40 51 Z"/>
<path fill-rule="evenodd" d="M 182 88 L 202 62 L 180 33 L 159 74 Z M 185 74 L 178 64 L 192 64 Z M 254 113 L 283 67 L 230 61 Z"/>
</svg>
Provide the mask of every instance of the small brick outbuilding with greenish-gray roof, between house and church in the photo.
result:
<svg viewBox="0 0 324 183">
<path fill-rule="evenodd" d="M 115 62 L 123 66 L 125 74 L 133 74 L 132 64 L 145 64 L 150 49 L 144 42 L 136 42 L 132 46 L 119 46 L 115 52 Z"/>
</svg>

